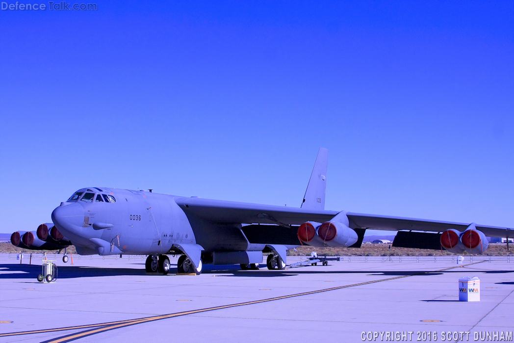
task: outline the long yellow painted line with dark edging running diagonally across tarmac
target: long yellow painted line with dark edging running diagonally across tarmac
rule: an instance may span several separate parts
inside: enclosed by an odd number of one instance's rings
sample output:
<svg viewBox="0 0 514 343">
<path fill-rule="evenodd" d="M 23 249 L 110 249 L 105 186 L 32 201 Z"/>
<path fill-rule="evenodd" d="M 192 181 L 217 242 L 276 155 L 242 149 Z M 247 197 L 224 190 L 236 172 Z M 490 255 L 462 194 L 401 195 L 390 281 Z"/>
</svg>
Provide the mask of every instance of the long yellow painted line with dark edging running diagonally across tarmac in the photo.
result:
<svg viewBox="0 0 514 343">
<path fill-rule="evenodd" d="M 65 343 L 72 340 L 76 340 L 79 338 L 83 338 L 86 336 L 94 335 L 97 333 L 115 330 L 119 328 L 124 328 L 136 324 L 141 324 L 145 322 L 150 321 L 156 321 L 156 320 L 162 320 L 167 318 L 174 318 L 179 316 L 186 316 L 189 314 L 195 314 L 195 313 L 202 313 L 202 312 L 208 312 L 208 311 L 215 311 L 215 310 L 223 310 L 223 309 L 229 309 L 233 307 L 238 306 L 246 306 L 246 305 L 252 305 L 252 304 L 258 304 L 263 302 L 269 302 L 269 301 L 275 301 L 275 300 L 282 300 L 282 299 L 288 299 L 293 297 L 300 297 L 303 295 L 310 295 L 310 294 L 317 294 L 317 293 L 323 293 L 323 292 L 329 292 L 329 291 L 335 291 L 335 290 L 341 290 L 343 288 L 348 287 L 355 287 L 355 286 L 362 286 L 382 281 L 390 281 L 390 280 L 397 280 L 402 279 L 410 276 L 417 276 L 417 275 L 423 275 L 428 273 L 438 273 L 438 272 L 444 272 L 445 270 L 454 269 L 454 268 L 462 268 L 468 265 L 476 264 L 476 263 L 482 263 L 485 261 L 479 261 L 479 262 L 473 262 L 468 263 L 464 265 L 457 265 L 453 267 L 448 267 L 444 269 L 439 270 L 427 270 L 426 272 L 420 272 L 416 274 L 410 274 L 410 275 L 401 275 L 401 276 L 395 276 L 392 278 L 387 279 L 380 279 L 380 280 L 374 280 L 374 281 L 366 281 L 361 283 L 354 283 L 351 285 L 345 285 L 345 286 L 337 286 L 337 287 L 331 287 L 331 288 L 324 288 L 323 290 L 317 290 L 317 291 L 309 291 L 309 292 L 303 292 L 303 293 L 296 293 L 296 294 L 290 294 L 290 295 L 284 295 L 280 297 L 274 297 L 274 298 L 268 298 L 268 299 L 261 299 L 261 300 L 254 300 L 254 301 L 246 301 L 246 302 L 240 302 L 235 304 L 229 304 L 229 305 L 221 305 L 221 306 L 215 306 L 212 308 L 206 308 L 206 309 L 199 309 L 199 310 L 191 310 L 191 311 L 184 311 L 184 312 L 177 312 L 177 313 L 170 313 L 170 314 L 164 314 L 164 315 L 157 315 L 157 316 L 151 316 L 151 317 L 145 317 L 145 318 L 136 318 L 136 319 L 127 319 L 127 320 L 120 320 L 120 321 L 112 321 L 112 322 L 106 322 L 106 323 L 98 323 L 98 324 L 88 324 L 88 325 L 81 325 L 81 326 L 75 326 L 75 327 L 66 327 L 66 328 L 56 328 L 56 329 L 44 329 L 44 330 L 34 330 L 34 331 L 23 331 L 23 332 L 12 332 L 12 333 L 4 333 L 0 334 L 0 337 L 6 337 L 6 336 L 18 336 L 18 335 L 28 335 L 28 334 L 37 334 L 37 333 L 48 333 L 48 332 L 59 332 L 59 331 L 69 331 L 69 330 L 79 330 L 79 329 L 90 329 L 85 330 L 82 332 L 69 334 L 66 336 L 61 336 L 58 338 L 52 338 L 50 340 L 46 340 L 42 343 Z M 92 329 L 96 328 L 96 329 Z"/>
</svg>

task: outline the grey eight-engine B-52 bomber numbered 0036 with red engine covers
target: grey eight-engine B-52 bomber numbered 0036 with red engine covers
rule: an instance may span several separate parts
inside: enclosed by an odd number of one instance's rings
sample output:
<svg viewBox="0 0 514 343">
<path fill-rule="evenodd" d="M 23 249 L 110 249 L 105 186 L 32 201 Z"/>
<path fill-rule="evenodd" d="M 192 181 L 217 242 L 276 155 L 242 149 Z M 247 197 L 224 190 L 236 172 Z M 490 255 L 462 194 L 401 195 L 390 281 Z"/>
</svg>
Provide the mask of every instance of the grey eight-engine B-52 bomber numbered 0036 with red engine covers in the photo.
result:
<svg viewBox="0 0 514 343">
<path fill-rule="evenodd" d="M 170 270 L 167 254 L 178 254 L 178 272 L 198 275 L 204 264 L 258 269 L 263 252 L 269 269 L 284 269 L 287 249 L 360 247 L 368 228 L 399 230 L 393 246 L 456 254 L 483 254 L 486 235 L 514 237 L 506 227 L 325 210 L 327 161 L 320 148 L 300 208 L 90 187 L 54 209 L 53 223 L 14 232 L 11 242 L 30 249 L 74 244 L 81 255 L 148 255 L 146 272 L 162 274 Z"/>
</svg>

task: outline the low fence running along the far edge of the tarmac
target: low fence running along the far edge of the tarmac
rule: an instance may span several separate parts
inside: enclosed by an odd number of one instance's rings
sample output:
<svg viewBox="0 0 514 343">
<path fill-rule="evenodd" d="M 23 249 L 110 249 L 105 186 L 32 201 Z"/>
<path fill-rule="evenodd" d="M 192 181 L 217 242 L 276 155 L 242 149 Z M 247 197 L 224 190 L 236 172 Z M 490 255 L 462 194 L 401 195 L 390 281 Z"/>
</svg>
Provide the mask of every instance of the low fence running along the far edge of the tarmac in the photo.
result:
<svg viewBox="0 0 514 343">
<path fill-rule="evenodd" d="M 23 254 L 23 263 L 27 263 L 27 259 L 32 255 L 32 260 L 34 262 L 41 261 L 43 258 L 43 254 Z M 68 254 L 76 260 L 136 260 L 136 261 L 145 261 L 146 255 L 108 255 L 108 256 L 100 256 L 100 255 L 76 255 L 76 254 Z M 46 254 L 46 258 L 48 260 L 60 260 L 62 259 L 63 254 Z M 175 261 L 178 259 L 178 255 L 168 255 L 171 261 Z M 263 263 L 266 263 L 266 255 L 264 256 Z M 310 256 L 288 256 L 287 263 L 295 263 L 307 261 Z M 321 256 L 320 256 L 321 257 Z M 339 258 L 341 262 L 457 262 L 456 255 L 450 256 L 329 256 L 331 258 Z M 4 253 L 0 254 L 0 258 L 7 259 L 20 259 L 20 253 Z M 488 262 L 514 262 L 514 256 L 505 255 L 505 256 L 489 256 L 489 255 L 468 255 L 463 256 L 464 262 L 478 262 L 478 261 L 488 261 Z"/>
</svg>

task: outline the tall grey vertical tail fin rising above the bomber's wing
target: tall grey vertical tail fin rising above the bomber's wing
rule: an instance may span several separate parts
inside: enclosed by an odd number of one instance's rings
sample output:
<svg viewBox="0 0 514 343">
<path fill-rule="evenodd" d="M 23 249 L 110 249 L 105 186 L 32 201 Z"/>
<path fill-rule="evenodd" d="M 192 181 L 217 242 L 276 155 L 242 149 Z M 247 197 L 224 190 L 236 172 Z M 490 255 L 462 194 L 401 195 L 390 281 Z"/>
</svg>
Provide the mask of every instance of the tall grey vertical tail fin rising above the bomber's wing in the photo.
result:
<svg viewBox="0 0 514 343">
<path fill-rule="evenodd" d="M 303 196 L 301 208 L 324 210 L 326 193 L 326 172 L 328 165 L 328 150 L 320 148 L 309 184 Z"/>
</svg>

